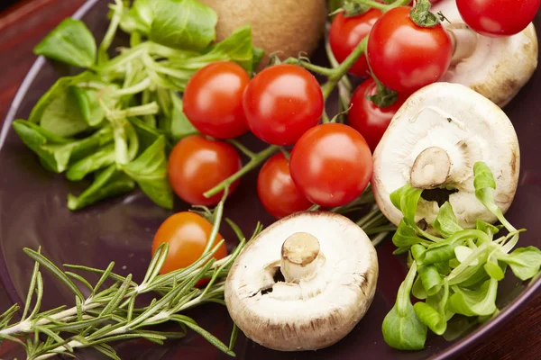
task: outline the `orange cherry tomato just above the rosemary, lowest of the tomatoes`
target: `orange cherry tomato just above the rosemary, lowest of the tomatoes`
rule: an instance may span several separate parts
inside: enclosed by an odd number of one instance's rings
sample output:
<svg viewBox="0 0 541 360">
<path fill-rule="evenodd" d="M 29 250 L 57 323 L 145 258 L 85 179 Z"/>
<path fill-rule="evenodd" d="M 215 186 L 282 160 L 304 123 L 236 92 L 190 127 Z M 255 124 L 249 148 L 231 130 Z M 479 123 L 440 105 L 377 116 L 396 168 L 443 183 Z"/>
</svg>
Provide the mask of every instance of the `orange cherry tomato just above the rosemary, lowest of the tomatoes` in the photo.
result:
<svg viewBox="0 0 541 360">
<path fill-rule="evenodd" d="M 169 252 L 160 274 L 192 265 L 203 254 L 211 231 L 212 224 L 194 212 L 179 212 L 163 221 L 152 241 L 152 256 L 161 244 L 169 244 Z M 223 239 L 222 235 L 217 234 L 215 245 Z M 219 260 L 226 256 L 227 248 L 224 243 L 218 247 L 214 258 Z"/>
</svg>

